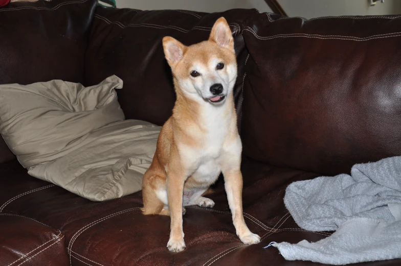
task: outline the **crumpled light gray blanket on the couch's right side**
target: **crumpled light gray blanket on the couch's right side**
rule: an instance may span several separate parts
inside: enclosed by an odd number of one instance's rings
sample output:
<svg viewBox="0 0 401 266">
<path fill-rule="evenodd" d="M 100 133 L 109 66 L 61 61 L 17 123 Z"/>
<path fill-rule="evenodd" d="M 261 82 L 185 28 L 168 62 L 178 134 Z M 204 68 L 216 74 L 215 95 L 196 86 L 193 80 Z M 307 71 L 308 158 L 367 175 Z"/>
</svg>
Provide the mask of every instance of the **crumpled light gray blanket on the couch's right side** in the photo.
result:
<svg viewBox="0 0 401 266">
<path fill-rule="evenodd" d="M 273 244 L 287 260 L 341 265 L 401 258 L 401 156 L 354 165 L 351 176 L 294 182 L 284 203 L 301 228 L 336 231 L 315 243 Z"/>
</svg>

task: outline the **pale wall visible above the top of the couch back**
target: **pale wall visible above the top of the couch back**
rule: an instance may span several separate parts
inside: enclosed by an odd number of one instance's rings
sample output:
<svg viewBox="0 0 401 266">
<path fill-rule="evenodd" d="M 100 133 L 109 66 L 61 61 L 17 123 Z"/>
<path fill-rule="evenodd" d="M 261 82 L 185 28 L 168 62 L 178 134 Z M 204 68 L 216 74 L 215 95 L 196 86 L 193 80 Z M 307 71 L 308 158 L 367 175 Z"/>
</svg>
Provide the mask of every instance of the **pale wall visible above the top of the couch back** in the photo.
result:
<svg viewBox="0 0 401 266">
<path fill-rule="evenodd" d="M 116 0 L 118 8 L 141 10 L 184 9 L 218 12 L 232 8 L 256 8 L 272 12 L 263 0 Z M 370 6 L 368 0 L 278 0 L 288 16 L 313 18 L 341 15 L 401 14 L 401 0 L 386 0 Z"/>
</svg>

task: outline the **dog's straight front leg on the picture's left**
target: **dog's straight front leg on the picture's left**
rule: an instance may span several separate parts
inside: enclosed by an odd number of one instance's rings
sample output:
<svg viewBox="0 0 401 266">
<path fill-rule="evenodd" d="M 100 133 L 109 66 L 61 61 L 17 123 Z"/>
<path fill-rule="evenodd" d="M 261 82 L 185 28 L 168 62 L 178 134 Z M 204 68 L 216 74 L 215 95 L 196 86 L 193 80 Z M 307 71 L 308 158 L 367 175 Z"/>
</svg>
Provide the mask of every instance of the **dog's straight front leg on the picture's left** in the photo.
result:
<svg viewBox="0 0 401 266">
<path fill-rule="evenodd" d="M 178 172 L 167 174 L 167 197 L 170 210 L 169 251 L 180 252 L 185 249 L 183 232 L 183 191 L 184 176 Z"/>
</svg>

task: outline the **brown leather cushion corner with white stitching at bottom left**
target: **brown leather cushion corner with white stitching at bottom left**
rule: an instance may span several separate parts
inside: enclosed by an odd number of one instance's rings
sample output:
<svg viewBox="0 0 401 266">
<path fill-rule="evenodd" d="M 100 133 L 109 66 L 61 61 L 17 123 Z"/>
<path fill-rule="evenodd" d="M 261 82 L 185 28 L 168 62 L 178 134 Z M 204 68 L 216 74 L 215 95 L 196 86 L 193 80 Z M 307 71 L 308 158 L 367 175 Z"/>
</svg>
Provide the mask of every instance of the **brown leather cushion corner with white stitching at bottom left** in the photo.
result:
<svg viewBox="0 0 401 266">
<path fill-rule="evenodd" d="M 31 218 L 0 213 L 0 265 L 70 265 L 59 230 Z"/>
</svg>

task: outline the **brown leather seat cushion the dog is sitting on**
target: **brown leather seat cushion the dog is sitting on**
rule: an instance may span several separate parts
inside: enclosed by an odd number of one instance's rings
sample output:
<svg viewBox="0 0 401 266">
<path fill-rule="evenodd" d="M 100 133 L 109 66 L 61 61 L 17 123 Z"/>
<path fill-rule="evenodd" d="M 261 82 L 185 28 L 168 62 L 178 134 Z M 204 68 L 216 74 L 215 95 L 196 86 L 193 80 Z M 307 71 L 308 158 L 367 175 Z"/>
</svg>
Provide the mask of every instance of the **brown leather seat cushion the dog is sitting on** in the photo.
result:
<svg viewBox="0 0 401 266">
<path fill-rule="evenodd" d="M 283 196 L 289 183 L 317 175 L 243 159 L 243 209 L 249 228 L 262 237 L 260 244 L 241 244 L 235 234 L 224 182 L 213 187 L 213 209 L 187 207 L 184 233 L 187 249 L 166 248 L 169 217 L 143 215 L 141 192 L 106 202 L 91 202 L 55 185 L 32 178 L 17 161 L 0 168 L 0 213 L 31 217 L 65 234 L 72 265 L 322 265 L 286 261 L 271 241 L 317 241 L 330 232 L 299 228 L 285 209 Z M 401 259 L 361 263 L 399 265 Z"/>
</svg>

